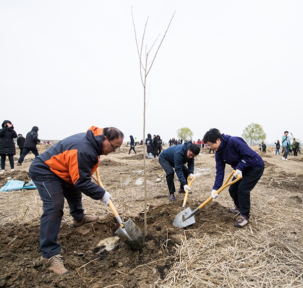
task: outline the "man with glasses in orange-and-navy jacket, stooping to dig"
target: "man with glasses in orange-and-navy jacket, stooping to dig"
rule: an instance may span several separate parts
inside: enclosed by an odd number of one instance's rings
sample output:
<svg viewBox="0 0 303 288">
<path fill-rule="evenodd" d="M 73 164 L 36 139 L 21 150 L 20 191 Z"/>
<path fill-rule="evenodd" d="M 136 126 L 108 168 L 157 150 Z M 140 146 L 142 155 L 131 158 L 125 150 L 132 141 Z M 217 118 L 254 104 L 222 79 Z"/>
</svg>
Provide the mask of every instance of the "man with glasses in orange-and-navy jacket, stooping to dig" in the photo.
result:
<svg viewBox="0 0 303 288">
<path fill-rule="evenodd" d="M 104 188 L 91 181 L 99 165 L 99 156 L 120 148 L 123 133 L 114 127 L 90 127 L 86 133 L 69 136 L 34 159 L 29 175 L 43 202 L 40 222 L 41 260 L 51 263 L 48 269 L 63 275 L 68 273 L 61 260 L 61 246 L 57 242 L 63 217 L 64 198 L 74 218 L 73 227 L 96 221 L 82 208 L 82 193 L 109 205 L 112 198 Z"/>
</svg>

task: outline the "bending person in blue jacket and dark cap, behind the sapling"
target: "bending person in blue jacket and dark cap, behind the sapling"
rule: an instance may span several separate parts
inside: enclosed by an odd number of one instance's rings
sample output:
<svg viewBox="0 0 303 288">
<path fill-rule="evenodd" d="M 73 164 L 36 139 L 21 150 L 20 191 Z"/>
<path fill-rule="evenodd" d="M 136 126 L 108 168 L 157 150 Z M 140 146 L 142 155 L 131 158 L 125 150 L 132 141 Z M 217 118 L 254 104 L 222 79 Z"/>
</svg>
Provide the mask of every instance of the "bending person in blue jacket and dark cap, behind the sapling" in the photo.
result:
<svg viewBox="0 0 303 288">
<path fill-rule="evenodd" d="M 194 158 L 200 153 L 198 145 L 191 141 L 184 142 L 183 145 L 176 145 L 163 150 L 159 155 L 159 163 L 166 173 L 166 181 L 169 190 L 169 200 L 175 201 L 177 198 L 174 193 L 176 191 L 174 184 L 174 169 L 180 181 L 179 193 L 185 193 L 188 187 L 187 178 L 193 177 Z M 184 165 L 187 163 L 187 167 Z M 190 193 L 190 192 L 189 192 Z"/>
</svg>

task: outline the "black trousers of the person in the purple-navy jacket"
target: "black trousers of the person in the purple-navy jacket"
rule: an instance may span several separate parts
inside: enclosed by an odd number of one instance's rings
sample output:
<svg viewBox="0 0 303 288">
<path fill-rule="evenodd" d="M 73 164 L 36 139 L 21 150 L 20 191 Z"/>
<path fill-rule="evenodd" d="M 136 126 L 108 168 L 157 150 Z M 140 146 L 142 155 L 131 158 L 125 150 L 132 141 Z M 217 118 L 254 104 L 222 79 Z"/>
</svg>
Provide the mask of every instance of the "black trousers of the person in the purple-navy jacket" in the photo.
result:
<svg viewBox="0 0 303 288">
<path fill-rule="evenodd" d="M 252 169 L 243 173 L 241 180 L 229 186 L 229 195 L 239 209 L 240 214 L 249 218 L 250 213 L 250 191 L 256 186 L 264 172 L 264 165 L 261 168 Z M 234 180 L 233 177 L 232 180 Z"/>
</svg>

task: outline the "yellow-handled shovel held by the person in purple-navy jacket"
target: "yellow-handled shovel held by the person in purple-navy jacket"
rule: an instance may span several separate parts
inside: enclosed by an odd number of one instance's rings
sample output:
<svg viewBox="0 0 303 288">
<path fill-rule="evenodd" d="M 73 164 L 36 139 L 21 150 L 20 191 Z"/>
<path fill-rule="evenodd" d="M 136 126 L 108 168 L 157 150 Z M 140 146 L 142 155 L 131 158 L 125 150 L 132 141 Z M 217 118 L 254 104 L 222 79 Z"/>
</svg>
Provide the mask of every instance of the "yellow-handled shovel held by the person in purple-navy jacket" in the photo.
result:
<svg viewBox="0 0 303 288">
<path fill-rule="evenodd" d="M 216 192 L 216 195 L 219 194 L 222 190 L 224 190 L 227 186 L 234 184 L 235 182 L 239 181 L 242 177 L 240 175 L 237 175 L 237 178 L 233 181 L 229 182 L 231 179 L 233 173 L 236 171 L 234 170 L 229 177 L 227 178 L 224 185 Z M 229 182 L 229 183 L 228 183 Z M 213 197 L 211 196 L 209 199 L 207 199 L 205 202 L 203 202 L 199 207 L 197 207 L 194 211 L 191 212 L 190 207 L 187 207 L 185 210 L 181 211 L 177 214 L 177 216 L 174 219 L 173 225 L 180 228 L 185 228 L 191 224 L 195 223 L 194 214 L 196 214 L 201 208 L 203 208 L 206 204 L 211 202 L 213 200 Z"/>
</svg>

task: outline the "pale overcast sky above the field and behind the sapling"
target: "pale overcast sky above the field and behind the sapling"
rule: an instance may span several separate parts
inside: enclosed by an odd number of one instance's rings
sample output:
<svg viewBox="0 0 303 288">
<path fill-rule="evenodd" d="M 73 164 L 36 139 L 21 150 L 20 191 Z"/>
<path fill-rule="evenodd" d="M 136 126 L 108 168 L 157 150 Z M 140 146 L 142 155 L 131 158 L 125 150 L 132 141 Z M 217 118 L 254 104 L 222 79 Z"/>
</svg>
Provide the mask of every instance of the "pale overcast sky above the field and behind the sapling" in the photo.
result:
<svg viewBox="0 0 303 288">
<path fill-rule="evenodd" d="M 1 0 L 1 123 L 42 139 L 92 125 L 143 138 L 131 7 L 139 41 L 149 16 L 144 46 L 160 34 L 152 55 L 176 11 L 147 77 L 145 134 L 240 136 L 255 122 L 268 142 L 303 140 L 302 1 Z"/>
</svg>

